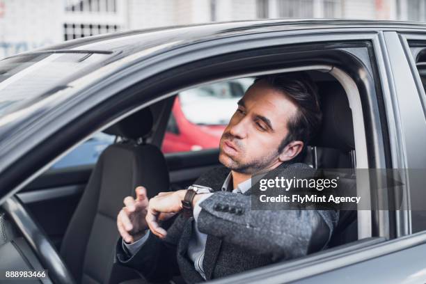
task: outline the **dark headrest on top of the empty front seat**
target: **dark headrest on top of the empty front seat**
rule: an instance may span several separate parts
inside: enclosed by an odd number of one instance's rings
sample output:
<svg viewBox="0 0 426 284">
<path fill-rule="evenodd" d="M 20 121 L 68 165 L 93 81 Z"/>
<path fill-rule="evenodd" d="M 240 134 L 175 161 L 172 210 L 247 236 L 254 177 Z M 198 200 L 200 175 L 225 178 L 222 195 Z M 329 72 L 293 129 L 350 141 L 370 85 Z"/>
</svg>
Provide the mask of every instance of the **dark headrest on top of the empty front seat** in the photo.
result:
<svg viewBox="0 0 426 284">
<path fill-rule="evenodd" d="M 145 108 L 108 127 L 104 133 L 136 140 L 150 134 L 153 122 L 150 109 Z"/>
</svg>

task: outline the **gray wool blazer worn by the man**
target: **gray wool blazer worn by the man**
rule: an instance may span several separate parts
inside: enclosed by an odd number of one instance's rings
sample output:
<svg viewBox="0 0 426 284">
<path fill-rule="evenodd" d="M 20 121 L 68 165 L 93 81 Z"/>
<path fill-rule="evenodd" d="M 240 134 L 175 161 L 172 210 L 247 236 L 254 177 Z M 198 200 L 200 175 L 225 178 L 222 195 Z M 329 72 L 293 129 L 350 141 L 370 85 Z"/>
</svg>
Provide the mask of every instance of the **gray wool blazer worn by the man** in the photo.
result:
<svg viewBox="0 0 426 284">
<path fill-rule="evenodd" d="M 310 169 L 306 164 L 284 163 L 281 173 L 298 175 L 298 169 Z M 195 184 L 212 187 L 216 194 L 200 207 L 198 230 L 207 234 L 203 268 L 207 280 L 262 267 L 281 260 L 290 260 L 319 251 L 331 237 L 338 212 L 333 210 L 251 210 L 251 190 L 244 194 L 221 191 L 230 170 L 215 168 L 202 175 Z M 227 205 L 228 210 L 223 210 Z M 230 210 L 230 208 L 233 208 Z M 167 281 L 181 274 L 187 283 L 203 282 L 187 257 L 194 219 L 181 214 L 164 224 L 166 239 L 150 234 L 141 249 L 129 257 L 116 246 L 116 258 L 132 267 L 148 281 Z"/>
</svg>

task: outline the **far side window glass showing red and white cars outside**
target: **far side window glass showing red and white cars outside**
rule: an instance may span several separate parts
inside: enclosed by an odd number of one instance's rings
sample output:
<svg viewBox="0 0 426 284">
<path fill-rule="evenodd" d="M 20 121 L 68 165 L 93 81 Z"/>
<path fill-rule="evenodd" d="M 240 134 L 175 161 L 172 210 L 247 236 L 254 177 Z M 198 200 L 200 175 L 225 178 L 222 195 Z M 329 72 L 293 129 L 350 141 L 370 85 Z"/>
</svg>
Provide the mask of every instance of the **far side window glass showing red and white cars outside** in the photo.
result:
<svg viewBox="0 0 426 284">
<path fill-rule="evenodd" d="M 185 90 L 173 104 L 162 145 L 164 153 L 219 148 L 219 140 L 253 78 Z"/>
</svg>

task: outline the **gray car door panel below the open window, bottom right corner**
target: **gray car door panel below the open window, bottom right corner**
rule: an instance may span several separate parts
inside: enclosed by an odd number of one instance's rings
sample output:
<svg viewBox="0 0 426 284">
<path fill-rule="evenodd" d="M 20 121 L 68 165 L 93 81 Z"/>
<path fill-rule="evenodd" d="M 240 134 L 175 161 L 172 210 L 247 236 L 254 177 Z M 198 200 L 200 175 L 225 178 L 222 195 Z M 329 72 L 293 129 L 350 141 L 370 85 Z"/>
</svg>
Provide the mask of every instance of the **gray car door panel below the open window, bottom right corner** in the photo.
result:
<svg viewBox="0 0 426 284">
<path fill-rule="evenodd" d="M 425 244 L 425 232 L 387 242 L 384 238 L 360 239 L 353 245 L 331 248 L 212 283 L 425 283 L 422 257 Z M 413 265 L 411 254 L 416 260 Z"/>
</svg>

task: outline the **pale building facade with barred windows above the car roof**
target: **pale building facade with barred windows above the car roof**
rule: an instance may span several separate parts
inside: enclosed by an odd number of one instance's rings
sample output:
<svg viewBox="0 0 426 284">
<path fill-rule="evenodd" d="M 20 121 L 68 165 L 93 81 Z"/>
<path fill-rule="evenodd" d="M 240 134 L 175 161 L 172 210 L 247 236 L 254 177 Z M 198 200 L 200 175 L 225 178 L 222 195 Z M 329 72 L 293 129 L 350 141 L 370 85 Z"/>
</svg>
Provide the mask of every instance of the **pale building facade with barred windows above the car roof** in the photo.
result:
<svg viewBox="0 0 426 284">
<path fill-rule="evenodd" d="M 275 18 L 426 21 L 426 0 L 0 0 L 0 58 L 101 33 Z"/>
</svg>

